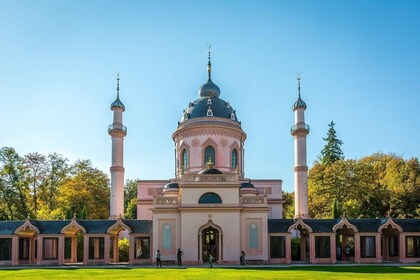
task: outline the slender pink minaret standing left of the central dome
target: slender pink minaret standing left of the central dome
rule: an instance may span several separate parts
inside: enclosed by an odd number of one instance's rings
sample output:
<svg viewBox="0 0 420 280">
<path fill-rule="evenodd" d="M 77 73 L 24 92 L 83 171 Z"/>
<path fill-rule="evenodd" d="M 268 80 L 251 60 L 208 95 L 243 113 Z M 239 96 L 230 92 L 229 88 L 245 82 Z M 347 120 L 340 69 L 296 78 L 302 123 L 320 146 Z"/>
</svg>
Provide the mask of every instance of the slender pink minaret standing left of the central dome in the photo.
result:
<svg viewBox="0 0 420 280">
<path fill-rule="evenodd" d="M 123 125 L 122 115 L 125 106 L 120 100 L 120 75 L 117 76 L 117 99 L 111 104 L 114 112 L 114 120 L 108 127 L 108 134 L 112 139 L 112 162 L 111 162 L 111 209 L 110 219 L 124 216 L 124 163 L 123 146 L 127 128 Z"/>
</svg>

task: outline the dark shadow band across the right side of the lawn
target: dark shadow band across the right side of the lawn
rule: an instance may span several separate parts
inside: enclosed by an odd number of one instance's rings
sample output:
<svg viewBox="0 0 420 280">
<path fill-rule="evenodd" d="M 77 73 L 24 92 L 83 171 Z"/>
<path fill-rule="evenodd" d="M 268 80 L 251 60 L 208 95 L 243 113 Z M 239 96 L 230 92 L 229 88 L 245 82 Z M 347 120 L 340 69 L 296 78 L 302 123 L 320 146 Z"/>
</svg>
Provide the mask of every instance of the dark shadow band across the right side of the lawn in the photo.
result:
<svg viewBox="0 0 420 280">
<path fill-rule="evenodd" d="M 217 267 L 213 269 L 232 269 L 232 270 L 268 270 L 268 271 L 312 271 L 312 272 L 334 272 L 334 273 L 372 273 L 372 274 L 386 274 L 386 273 L 410 273 L 420 274 L 420 267 L 418 269 L 411 269 L 401 266 L 300 266 L 300 267 L 242 267 L 242 268 L 222 268 Z"/>
</svg>

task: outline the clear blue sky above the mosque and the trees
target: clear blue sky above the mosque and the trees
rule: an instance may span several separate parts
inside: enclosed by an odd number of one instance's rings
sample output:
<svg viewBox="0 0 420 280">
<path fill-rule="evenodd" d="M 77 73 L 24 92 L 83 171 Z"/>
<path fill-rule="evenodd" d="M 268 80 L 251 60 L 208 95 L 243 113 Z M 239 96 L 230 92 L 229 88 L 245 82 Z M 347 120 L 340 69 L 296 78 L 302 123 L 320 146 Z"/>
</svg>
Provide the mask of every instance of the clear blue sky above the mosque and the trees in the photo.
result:
<svg viewBox="0 0 420 280">
<path fill-rule="evenodd" d="M 174 175 L 182 110 L 213 81 L 248 134 L 245 172 L 293 188 L 296 74 L 308 163 L 334 120 L 346 158 L 420 151 L 418 1 L 0 1 L 0 146 L 108 173 L 116 74 L 126 178 Z"/>
</svg>

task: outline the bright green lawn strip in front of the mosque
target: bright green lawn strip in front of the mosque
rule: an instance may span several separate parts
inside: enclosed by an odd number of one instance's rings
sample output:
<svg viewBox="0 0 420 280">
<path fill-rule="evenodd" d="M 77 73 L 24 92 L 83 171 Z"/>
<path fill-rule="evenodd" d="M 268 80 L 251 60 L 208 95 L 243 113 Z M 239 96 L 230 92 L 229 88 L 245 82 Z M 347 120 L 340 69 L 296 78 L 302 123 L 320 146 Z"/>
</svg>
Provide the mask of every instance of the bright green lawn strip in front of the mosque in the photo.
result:
<svg viewBox="0 0 420 280">
<path fill-rule="evenodd" d="M 29 268 L 0 269 L 0 279 L 420 279 L 418 266 L 305 266 L 258 268 Z"/>
</svg>

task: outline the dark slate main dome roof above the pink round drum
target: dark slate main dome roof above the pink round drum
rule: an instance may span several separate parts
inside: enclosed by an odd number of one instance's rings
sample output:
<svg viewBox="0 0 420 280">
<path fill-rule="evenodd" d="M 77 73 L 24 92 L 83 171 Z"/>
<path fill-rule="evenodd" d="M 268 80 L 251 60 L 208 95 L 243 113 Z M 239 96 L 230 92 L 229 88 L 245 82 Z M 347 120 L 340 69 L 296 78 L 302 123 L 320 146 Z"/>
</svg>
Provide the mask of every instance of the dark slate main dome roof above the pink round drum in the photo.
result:
<svg viewBox="0 0 420 280">
<path fill-rule="evenodd" d="M 235 110 L 230 104 L 218 97 L 200 97 L 194 102 L 190 102 L 184 110 L 181 123 L 187 119 L 207 117 L 207 111 L 211 109 L 213 117 L 225 118 L 238 122 Z"/>
</svg>

